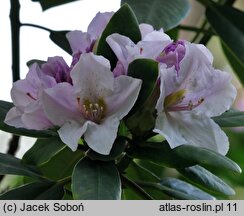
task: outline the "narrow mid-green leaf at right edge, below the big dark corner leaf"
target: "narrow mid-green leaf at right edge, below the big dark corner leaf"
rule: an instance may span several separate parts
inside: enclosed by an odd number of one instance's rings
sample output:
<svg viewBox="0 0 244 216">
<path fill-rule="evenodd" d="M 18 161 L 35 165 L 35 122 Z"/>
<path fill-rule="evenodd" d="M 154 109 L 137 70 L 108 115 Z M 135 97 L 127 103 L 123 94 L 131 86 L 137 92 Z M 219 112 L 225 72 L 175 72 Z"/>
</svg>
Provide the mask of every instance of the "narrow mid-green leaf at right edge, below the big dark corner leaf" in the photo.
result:
<svg viewBox="0 0 244 216">
<path fill-rule="evenodd" d="M 222 43 L 222 48 L 232 69 L 239 77 L 241 83 L 244 83 L 244 63 L 241 62 L 239 58 L 237 58 L 237 56 L 231 51 L 228 46 L 225 45 L 225 43 Z"/>
</svg>

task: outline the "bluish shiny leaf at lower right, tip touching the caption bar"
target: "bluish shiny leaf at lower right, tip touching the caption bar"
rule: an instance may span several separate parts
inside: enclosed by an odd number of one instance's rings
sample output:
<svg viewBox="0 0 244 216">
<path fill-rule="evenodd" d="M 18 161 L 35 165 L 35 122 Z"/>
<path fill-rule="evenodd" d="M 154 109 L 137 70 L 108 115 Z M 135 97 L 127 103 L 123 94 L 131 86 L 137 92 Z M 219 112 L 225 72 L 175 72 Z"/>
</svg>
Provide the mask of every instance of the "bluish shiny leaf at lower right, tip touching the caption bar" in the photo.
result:
<svg viewBox="0 0 244 216">
<path fill-rule="evenodd" d="M 206 192 L 175 178 L 165 178 L 157 184 L 157 188 L 176 199 L 190 200 L 214 200 L 215 198 Z"/>
</svg>

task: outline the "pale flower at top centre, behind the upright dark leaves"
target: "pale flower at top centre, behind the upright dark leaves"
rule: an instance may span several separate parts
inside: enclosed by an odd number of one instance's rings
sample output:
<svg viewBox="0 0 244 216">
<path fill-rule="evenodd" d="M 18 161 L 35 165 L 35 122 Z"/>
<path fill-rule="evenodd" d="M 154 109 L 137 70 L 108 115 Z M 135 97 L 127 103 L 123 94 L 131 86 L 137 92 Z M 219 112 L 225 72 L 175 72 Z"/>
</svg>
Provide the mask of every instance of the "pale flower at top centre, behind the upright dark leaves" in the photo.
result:
<svg viewBox="0 0 244 216">
<path fill-rule="evenodd" d="M 142 40 L 135 44 L 130 38 L 114 33 L 106 41 L 118 58 L 114 75 L 126 75 L 129 64 L 138 58 L 154 59 L 162 53 L 172 40 L 163 32 L 156 31 L 151 25 L 140 24 Z"/>
</svg>

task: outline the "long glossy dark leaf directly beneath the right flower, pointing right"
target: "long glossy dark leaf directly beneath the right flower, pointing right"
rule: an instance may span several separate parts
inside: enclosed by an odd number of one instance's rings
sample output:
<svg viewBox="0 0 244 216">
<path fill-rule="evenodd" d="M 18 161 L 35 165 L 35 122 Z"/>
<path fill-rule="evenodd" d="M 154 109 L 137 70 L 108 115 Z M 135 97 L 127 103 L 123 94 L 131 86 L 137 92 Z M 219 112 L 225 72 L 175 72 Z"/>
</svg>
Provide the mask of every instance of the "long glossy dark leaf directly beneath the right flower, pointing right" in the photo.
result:
<svg viewBox="0 0 244 216">
<path fill-rule="evenodd" d="M 152 161 L 169 167 L 189 167 L 196 164 L 237 173 L 241 168 L 229 158 L 206 148 L 181 145 L 171 149 L 166 142 L 146 143 L 145 147 L 133 147 L 128 150 L 131 157 Z"/>
</svg>

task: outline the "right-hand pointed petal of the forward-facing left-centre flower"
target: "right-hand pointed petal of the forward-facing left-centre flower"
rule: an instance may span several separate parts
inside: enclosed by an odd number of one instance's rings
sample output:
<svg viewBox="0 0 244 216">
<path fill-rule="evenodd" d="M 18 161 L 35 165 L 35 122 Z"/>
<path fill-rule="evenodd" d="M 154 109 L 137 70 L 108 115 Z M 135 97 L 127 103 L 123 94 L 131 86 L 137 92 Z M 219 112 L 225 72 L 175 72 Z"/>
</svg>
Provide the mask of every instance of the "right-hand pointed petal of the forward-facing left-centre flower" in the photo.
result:
<svg viewBox="0 0 244 216">
<path fill-rule="evenodd" d="M 122 119 L 135 104 L 142 81 L 121 75 L 115 78 L 113 94 L 105 98 L 109 116 Z"/>
</svg>

